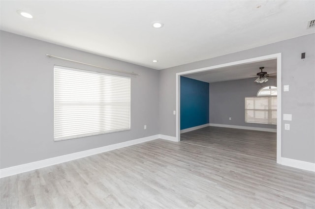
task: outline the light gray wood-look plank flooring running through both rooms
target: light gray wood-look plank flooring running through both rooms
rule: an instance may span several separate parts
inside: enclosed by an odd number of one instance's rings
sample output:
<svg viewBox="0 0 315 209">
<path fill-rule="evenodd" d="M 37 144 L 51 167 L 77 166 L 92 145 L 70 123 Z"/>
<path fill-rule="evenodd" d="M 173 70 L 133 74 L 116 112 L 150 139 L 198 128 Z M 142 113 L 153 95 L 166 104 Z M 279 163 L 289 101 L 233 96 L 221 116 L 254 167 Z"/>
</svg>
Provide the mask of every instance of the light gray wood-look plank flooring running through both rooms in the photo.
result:
<svg viewBox="0 0 315 209">
<path fill-rule="evenodd" d="M 315 173 L 276 163 L 276 133 L 181 136 L 2 178 L 0 208 L 315 208 Z"/>
</svg>

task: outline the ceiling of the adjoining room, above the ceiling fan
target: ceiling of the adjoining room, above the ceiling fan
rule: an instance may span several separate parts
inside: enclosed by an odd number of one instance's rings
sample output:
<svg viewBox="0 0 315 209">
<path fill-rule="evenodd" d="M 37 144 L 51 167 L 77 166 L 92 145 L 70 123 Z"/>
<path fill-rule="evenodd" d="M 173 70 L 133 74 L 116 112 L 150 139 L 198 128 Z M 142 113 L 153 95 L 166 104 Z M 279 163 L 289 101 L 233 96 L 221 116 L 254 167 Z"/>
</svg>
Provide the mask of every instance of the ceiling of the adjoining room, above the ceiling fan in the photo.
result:
<svg viewBox="0 0 315 209">
<path fill-rule="evenodd" d="M 185 75 L 185 77 L 208 83 L 245 78 L 252 78 L 252 81 L 254 81 L 256 79 L 256 73 L 260 72 L 259 67 L 264 67 L 263 72 L 267 72 L 268 74 L 277 73 L 277 59 L 243 65 L 234 65 L 211 71 Z"/>
</svg>

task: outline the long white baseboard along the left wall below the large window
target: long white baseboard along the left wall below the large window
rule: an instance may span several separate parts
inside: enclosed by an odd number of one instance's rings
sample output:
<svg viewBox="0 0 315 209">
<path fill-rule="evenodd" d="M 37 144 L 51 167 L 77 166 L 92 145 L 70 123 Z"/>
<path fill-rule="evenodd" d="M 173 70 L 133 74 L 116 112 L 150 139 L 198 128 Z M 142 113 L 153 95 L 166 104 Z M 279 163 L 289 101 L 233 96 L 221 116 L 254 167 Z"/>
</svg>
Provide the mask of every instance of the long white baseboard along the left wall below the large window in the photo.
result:
<svg viewBox="0 0 315 209">
<path fill-rule="evenodd" d="M 169 136 L 169 137 L 171 137 L 171 136 Z M 146 141 L 155 140 L 158 138 L 162 138 L 162 137 L 160 137 L 160 134 L 152 135 L 152 136 L 148 136 L 148 137 L 144 137 L 144 138 L 139 138 L 139 139 L 134 139 L 134 140 L 118 143 L 118 144 L 112 144 L 112 145 L 108 145 L 108 146 L 104 146 L 104 147 L 98 147 L 95 149 L 85 150 L 82 152 L 71 153 L 68 155 L 43 159 L 43 160 L 39 160 L 39 161 L 35 161 L 35 162 L 22 164 L 22 165 L 3 168 L 3 169 L 0 169 L 0 178 L 12 176 L 15 174 L 20 174 L 20 173 L 24 173 L 24 172 L 28 172 L 28 171 L 32 171 L 32 170 L 36 170 L 39 168 L 44 168 L 44 167 L 51 166 L 51 165 L 56 165 L 59 163 L 67 162 L 67 161 L 82 158 L 82 157 L 93 156 L 93 155 L 96 155 L 99 153 L 104 153 L 104 152 L 108 152 L 111 150 L 116 150 L 119 148 L 143 143 Z M 166 138 L 163 138 L 163 139 L 166 139 Z M 167 140 L 170 140 L 170 139 L 167 139 Z"/>
</svg>

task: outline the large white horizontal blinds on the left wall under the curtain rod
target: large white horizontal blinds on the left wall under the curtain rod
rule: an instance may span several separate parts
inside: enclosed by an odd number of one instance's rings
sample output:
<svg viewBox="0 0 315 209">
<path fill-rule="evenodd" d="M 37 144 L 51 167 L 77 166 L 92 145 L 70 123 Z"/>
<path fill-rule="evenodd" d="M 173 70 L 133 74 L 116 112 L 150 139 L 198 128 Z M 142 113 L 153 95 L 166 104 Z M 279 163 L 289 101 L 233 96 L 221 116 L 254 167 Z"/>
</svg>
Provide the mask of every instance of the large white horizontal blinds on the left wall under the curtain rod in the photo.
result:
<svg viewBox="0 0 315 209">
<path fill-rule="evenodd" d="M 130 78 L 54 67 L 55 141 L 130 129 Z"/>
</svg>

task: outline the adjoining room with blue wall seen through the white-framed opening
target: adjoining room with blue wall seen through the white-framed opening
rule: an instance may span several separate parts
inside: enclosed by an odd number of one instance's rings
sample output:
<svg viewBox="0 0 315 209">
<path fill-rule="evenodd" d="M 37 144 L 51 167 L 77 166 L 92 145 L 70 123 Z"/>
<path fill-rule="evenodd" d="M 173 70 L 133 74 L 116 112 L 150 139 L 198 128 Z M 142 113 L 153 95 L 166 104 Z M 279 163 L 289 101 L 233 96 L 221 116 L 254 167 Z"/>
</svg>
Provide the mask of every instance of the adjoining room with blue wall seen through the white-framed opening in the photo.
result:
<svg viewBox="0 0 315 209">
<path fill-rule="evenodd" d="M 180 86 L 183 143 L 277 160 L 277 59 L 185 75 Z"/>
</svg>

